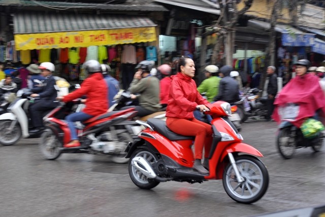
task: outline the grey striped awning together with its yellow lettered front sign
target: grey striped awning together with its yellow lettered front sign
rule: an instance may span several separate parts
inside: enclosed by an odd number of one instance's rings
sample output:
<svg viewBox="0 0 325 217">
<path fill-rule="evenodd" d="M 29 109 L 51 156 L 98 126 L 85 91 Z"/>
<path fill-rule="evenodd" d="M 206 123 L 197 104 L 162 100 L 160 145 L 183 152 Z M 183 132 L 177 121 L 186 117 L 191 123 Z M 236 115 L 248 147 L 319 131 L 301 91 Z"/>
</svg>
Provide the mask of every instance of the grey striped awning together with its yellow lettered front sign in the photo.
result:
<svg viewBox="0 0 325 217">
<path fill-rule="evenodd" d="M 156 41 L 147 17 L 86 14 L 14 15 L 16 50 L 88 47 Z"/>
</svg>

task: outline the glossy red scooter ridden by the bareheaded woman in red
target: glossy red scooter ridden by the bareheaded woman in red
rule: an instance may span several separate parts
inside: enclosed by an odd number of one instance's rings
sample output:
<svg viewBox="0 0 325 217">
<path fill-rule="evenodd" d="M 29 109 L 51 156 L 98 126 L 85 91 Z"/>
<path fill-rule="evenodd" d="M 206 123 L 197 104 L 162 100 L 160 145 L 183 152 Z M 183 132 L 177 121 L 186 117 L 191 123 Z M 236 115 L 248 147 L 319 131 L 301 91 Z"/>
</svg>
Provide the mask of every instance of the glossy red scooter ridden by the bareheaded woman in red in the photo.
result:
<svg viewBox="0 0 325 217">
<path fill-rule="evenodd" d="M 257 158 L 263 155 L 243 143 L 242 136 L 229 121 L 231 105 L 214 102 L 206 114 L 213 118 L 209 174 L 192 168 L 192 136 L 172 132 L 163 120 L 148 119 L 147 122 L 137 121 L 147 128 L 125 150 L 126 157 L 130 158 L 128 172 L 133 183 L 141 189 L 151 189 L 169 180 L 202 183 L 208 179 L 222 179 L 224 190 L 233 200 L 249 204 L 261 199 L 269 186 L 268 170 Z"/>
</svg>

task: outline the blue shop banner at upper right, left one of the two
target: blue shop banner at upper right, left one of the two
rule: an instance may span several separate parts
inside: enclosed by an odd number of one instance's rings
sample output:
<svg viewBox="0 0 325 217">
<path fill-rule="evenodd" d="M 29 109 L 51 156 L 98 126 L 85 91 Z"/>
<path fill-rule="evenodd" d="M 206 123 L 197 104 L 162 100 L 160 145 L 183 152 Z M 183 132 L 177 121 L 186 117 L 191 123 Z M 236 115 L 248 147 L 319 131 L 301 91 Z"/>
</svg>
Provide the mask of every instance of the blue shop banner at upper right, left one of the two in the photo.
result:
<svg viewBox="0 0 325 217">
<path fill-rule="evenodd" d="M 282 45 L 299 47 L 313 46 L 315 34 L 282 33 Z"/>
</svg>

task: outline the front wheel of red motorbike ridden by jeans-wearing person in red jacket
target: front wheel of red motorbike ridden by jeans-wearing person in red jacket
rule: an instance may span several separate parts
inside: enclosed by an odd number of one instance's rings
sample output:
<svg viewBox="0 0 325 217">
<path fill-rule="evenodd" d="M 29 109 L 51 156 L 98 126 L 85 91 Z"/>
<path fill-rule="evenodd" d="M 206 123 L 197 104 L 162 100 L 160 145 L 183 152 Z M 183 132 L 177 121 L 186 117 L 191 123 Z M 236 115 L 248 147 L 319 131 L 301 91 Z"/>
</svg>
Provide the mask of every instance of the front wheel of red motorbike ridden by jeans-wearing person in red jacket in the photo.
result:
<svg viewBox="0 0 325 217">
<path fill-rule="evenodd" d="M 55 160 L 61 155 L 61 142 L 51 129 L 46 129 L 41 136 L 39 148 L 45 159 Z"/>
</svg>

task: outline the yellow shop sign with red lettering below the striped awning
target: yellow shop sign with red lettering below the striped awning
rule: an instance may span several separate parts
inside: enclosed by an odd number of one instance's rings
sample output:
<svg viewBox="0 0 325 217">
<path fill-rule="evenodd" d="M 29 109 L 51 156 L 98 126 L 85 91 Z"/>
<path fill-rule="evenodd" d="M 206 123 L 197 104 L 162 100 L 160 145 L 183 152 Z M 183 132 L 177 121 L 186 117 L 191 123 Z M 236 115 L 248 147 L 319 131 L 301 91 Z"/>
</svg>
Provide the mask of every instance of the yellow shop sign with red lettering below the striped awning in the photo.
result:
<svg viewBox="0 0 325 217">
<path fill-rule="evenodd" d="M 156 41 L 155 27 L 15 34 L 16 50 L 89 47 Z"/>
</svg>

